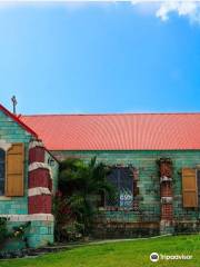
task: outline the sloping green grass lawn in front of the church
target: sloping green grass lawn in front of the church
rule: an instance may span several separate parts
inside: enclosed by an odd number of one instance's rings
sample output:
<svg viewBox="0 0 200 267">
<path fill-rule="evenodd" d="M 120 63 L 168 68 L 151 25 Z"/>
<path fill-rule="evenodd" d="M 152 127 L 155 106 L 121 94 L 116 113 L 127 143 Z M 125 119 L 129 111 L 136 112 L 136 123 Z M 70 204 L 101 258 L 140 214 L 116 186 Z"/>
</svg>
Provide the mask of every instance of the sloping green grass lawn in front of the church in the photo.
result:
<svg viewBox="0 0 200 267">
<path fill-rule="evenodd" d="M 151 263 L 151 253 L 192 255 L 191 260 Z M 38 258 L 0 260 L 0 267 L 148 267 L 200 266 L 200 235 L 137 239 L 101 245 L 87 245 Z"/>
</svg>

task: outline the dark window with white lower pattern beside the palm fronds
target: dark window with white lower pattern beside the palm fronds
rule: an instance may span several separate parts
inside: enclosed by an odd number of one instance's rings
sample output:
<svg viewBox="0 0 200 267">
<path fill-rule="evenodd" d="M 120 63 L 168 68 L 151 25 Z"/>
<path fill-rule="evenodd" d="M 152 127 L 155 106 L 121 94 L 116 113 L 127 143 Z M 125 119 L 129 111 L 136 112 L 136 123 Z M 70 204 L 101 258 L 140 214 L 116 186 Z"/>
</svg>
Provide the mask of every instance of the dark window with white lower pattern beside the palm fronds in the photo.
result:
<svg viewBox="0 0 200 267">
<path fill-rule="evenodd" d="M 133 206 L 133 176 L 129 167 L 116 167 L 108 180 L 116 189 L 114 197 L 106 199 L 107 207 L 132 208 Z"/>
</svg>

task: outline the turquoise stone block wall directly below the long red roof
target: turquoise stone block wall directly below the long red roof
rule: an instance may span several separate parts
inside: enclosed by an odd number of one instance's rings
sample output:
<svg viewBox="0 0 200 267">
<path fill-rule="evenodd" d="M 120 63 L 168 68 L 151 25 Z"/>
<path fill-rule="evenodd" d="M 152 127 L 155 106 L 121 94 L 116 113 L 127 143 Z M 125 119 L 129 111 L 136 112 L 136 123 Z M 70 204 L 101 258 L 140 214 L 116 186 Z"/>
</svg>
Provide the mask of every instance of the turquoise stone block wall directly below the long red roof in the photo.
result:
<svg viewBox="0 0 200 267">
<path fill-rule="evenodd" d="M 89 161 L 97 156 L 98 161 L 108 165 L 131 164 L 139 170 L 140 201 L 137 211 L 106 211 L 108 220 L 116 221 L 159 221 L 160 220 L 160 177 L 157 160 L 171 158 L 173 162 L 173 217 L 177 221 L 196 221 L 200 219 L 200 208 L 183 208 L 181 169 L 183 167 L 196 168 L 200 165 L 200 150 L 173 150 L 173 151 L 54 151 L 60 159 L 78 157 Z"/>
</svg>

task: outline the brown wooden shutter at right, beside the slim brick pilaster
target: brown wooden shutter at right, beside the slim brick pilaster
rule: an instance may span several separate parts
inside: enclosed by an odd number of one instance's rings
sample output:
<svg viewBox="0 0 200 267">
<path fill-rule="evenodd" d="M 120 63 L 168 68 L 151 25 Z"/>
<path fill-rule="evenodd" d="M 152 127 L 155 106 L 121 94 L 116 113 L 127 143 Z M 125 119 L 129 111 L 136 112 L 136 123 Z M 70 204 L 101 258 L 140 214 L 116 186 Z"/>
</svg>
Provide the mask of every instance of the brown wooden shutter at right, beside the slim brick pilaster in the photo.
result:
<svg viewBox="0 0 200 267">
<path fill-rule="evenodd" d="M 182 169 L 182 196 L 184 208 L 198 207 L 198 187 L 194 169 Z"/>
</svg>

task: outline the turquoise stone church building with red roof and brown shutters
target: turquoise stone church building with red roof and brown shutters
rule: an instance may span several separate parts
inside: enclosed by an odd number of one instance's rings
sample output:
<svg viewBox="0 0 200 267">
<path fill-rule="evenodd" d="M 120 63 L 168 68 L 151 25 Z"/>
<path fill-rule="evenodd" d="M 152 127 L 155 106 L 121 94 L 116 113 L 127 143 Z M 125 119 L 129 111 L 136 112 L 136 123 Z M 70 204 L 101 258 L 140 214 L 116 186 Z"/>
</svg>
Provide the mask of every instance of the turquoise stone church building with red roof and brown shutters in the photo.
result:
<svg viewBox="0 0 200 267">
<path fill-rule="evenodd" d="M 31 221 L 28 241 L 53 241 L 59 161 L 112 168 L 97 237 L 200 230 L 200 113 L 14 116 L 0 106 L 0 217 Z"/>
</svg>

